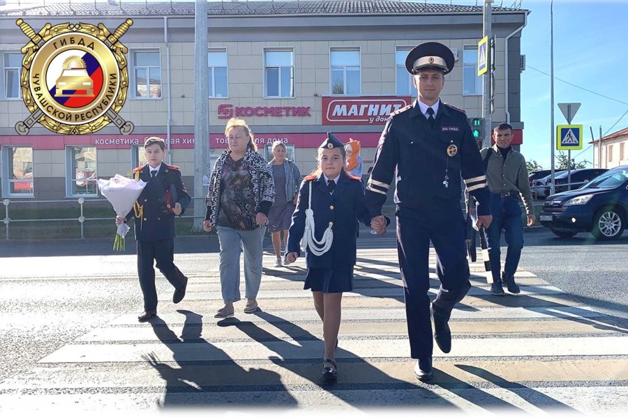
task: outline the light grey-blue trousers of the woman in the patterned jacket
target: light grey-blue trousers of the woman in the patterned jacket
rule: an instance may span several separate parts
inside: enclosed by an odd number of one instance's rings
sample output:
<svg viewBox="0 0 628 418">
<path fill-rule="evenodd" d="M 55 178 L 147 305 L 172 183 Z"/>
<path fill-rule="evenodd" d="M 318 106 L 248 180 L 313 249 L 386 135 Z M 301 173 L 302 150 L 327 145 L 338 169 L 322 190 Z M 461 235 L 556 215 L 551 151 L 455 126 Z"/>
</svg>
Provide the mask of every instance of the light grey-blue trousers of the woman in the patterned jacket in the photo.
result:
<svg viewBox="0 0 628 418">
<path fill-rule="evenodd" d="M 238 231 L 216 226 L 220 241 L 220 288 L 223 301 L 236 302 L 240 297 L 240 252 L 244 252 L 245 297 L 257 297 L 262 281 L 262 242 L 266 226 L 253 231 Z"/>
</svg>

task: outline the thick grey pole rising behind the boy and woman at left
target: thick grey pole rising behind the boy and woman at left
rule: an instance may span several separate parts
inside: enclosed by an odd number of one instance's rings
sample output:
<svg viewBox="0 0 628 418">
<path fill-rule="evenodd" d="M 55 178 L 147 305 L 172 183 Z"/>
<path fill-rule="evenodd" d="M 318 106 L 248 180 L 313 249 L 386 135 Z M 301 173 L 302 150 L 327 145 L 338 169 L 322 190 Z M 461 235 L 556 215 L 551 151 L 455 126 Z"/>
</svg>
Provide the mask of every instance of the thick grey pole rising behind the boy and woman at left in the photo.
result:
<svg viewBox="0 0 628 418">
<path fill-rule="evenodd" d="M 209 162 L 209 88 L 207 79 L 207 0 L 196 0 L 194 31 L 194 221 L 192 231 L 203 230 L 207 208 L 202 197 L 203 176 Z"/>
</svg>

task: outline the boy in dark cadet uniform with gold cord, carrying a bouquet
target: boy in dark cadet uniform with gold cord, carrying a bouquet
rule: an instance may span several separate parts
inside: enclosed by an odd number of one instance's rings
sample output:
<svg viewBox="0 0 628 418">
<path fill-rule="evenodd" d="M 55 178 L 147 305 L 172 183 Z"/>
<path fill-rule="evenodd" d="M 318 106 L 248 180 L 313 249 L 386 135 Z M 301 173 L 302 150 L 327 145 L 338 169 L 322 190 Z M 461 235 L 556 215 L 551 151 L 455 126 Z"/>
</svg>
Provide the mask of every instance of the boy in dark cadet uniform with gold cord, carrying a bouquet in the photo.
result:
<svg viewBox="0 0 628 418">
<path fill-rule="evenodd" d="M 137 274 L 144 295 L 144 313 L 137 317 L 146 322 L 157 314 L 157 290 L 155 269 L 157 268 L 174 286 L 172 302 L 179 303 L 186 295 L 188 278 L 174 265 L 174 215 L 183 215 L 191 198 L 179 167 L 163 164 L 165 142 L 158 137 L 149 137 L 144 142 L 144 155 L 148 164 L 133 169 L 133 178 L 147 182 L 137 198 L 133 210 L 126 219 L 117 217 L 116 223 L 127 222 L 135 217 L 135 240 L 137 240 Z"/>
</svg>

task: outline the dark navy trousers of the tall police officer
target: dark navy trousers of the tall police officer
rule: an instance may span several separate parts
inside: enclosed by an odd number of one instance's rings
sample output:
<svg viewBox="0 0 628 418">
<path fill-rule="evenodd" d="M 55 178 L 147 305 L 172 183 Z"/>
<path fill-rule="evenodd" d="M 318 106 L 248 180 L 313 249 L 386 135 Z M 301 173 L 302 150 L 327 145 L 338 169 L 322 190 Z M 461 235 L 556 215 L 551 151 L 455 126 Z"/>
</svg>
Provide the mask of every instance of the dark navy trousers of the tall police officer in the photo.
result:
<svg viewBox="0 0 628 418">
<path fill-rule="evenodd" d="M 412 217 L 397 217 L 397 249 L 413 359 L 430 357 L 434 346 L 428 295 L 430 241 L 436 250 L 436 274 L 440 279 L 433 309 L 449 320 L 454 305 L 463 300 L 471 288 L 462 218 L 428 225 Z"/>
</svg>

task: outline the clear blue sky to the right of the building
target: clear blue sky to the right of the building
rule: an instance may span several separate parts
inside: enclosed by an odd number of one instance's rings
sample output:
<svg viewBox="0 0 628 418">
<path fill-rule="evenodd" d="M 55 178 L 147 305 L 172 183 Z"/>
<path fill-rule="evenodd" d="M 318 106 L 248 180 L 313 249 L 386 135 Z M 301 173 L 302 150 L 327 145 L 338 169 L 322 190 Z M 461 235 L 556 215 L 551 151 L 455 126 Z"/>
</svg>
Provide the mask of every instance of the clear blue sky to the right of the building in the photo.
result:
<svg viewBox="0 0 628 418">
<path fill-rule="evenodd" d="M 526 64 L 521 73 L 521 152 L 544 169 L 551 168 L 550 6 L 550 0 L 522 3 L 530 15 L 521 37 Z M 585 141 L 583 150 L 571 151 L 571 158 L 590 162 L 587 167 L 593 162 L 590 127 L 596 139 L 600 126 L 602 136 L 628 127 L 626 16 L 627 1 L 553 2 L 554 125 L 567 124 L 558 103 L 581 103 L 571 123 L 583 125 Z"/>
</svg>

